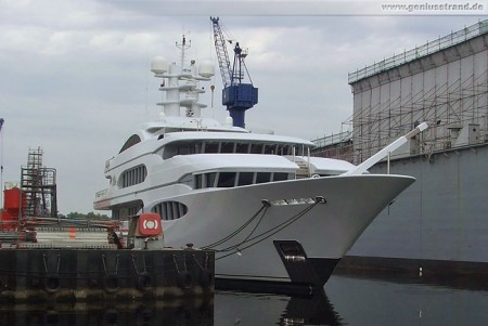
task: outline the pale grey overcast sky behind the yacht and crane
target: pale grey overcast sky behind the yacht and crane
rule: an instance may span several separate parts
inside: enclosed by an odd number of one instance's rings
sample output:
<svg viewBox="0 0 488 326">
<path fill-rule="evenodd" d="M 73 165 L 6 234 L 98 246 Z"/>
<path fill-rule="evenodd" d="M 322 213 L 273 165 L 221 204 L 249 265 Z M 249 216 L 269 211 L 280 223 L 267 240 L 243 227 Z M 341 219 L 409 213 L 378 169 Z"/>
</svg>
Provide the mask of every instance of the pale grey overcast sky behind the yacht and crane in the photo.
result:
<svg viewBox="0 0 488 326">
<path fill-rule="evenodd" d="M 40 146 L 44 166 L 57 170 L 60 212 L 92 211 L 94 193 L 107 186 L 105 160 L 159 112 L 152 57 L 178 61 L 184 34 L 189 57 L 216 62 L 210 15 L 249 52 L 259 103 L 246 127 L 308 140 L 341 131 L 351 116 L 349 71 L 486 17 L 399 15 L 378 3 L 0 0 L 2 181 L 18 182 L 28 149 Z M 220 75 L 213 83 L 205 115 L 223 120 Z"/>
</svg>

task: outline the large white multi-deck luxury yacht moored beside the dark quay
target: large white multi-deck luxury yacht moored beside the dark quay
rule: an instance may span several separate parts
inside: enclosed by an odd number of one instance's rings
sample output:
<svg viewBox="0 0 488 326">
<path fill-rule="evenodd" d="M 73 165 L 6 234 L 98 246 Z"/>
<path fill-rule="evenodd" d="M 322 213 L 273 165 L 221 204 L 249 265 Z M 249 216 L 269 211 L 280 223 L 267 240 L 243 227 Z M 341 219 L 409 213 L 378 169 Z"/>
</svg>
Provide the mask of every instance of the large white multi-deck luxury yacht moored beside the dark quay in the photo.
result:
<svg viewBox="0 0 488 326">
<path fill-rule="evenodd" d="M 165 246 L 216 250 L 218 279 L 323 286 L 364 229 L 414 179 L 311 157 L 313 143 L 205 118 L 209 62 L 152 62 L 166 94 L 157 121 L 105 162 L 95 209 L 125 220 L 157 212 Z"/>
</svg>

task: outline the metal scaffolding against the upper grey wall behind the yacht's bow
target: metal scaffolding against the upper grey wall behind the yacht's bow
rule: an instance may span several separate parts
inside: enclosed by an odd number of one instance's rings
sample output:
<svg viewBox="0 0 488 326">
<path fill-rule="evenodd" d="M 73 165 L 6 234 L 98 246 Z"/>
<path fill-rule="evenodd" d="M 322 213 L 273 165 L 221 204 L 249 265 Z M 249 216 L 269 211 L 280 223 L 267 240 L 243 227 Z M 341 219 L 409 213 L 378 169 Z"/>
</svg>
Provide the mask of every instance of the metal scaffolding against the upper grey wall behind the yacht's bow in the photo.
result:
<svg viewBox="0 0 488 326">
<path fill-rule="evenodd" d="M 426 121 L 429 129 L 414 139 L 408 155 L 431 156 L 455 146 L 479 144 L 488 135 L 488 71 L 451 84 L 432 87 L 406 99 L 391 99 L 355 113 L 347 121 L 354 128 L 349 161 L 359 164 Z M 466 130 L 465 136 L 460 139 Z"/>
</svg>

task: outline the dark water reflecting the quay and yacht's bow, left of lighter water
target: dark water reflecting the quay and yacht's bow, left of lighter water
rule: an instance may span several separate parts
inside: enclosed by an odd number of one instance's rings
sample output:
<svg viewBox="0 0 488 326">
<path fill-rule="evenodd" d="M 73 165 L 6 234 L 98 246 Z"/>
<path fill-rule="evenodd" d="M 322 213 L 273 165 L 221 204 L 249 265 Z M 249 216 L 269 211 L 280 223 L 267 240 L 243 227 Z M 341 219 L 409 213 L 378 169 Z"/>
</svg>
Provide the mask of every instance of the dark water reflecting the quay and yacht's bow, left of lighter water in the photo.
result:
<svg viewBox="0 0 488 326">
<path fill-rule="evenodd" d="M 0 308 L 0 325 L 341 325 L 321 292 L 287 297 L 217 292 L 208 300 L 158 303 L 17 304 Z"/>
</svg>

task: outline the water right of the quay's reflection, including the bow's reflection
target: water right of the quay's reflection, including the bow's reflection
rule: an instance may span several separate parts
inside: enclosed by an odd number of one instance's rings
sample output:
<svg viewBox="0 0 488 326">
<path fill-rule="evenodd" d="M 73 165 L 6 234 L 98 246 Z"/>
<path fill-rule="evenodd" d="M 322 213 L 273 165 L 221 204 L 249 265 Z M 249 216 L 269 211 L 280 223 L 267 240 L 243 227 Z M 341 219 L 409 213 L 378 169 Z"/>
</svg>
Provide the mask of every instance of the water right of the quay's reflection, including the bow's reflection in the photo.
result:
<svg viewBox="0 0 488 326">
<path fill-rule="evenodd" d="M 215 326 L 488 325 L 486 282 L 333 275 L 307 297 L 218 292 Z"/>
</svg>

